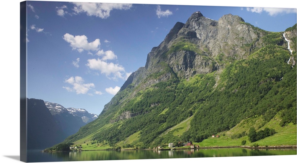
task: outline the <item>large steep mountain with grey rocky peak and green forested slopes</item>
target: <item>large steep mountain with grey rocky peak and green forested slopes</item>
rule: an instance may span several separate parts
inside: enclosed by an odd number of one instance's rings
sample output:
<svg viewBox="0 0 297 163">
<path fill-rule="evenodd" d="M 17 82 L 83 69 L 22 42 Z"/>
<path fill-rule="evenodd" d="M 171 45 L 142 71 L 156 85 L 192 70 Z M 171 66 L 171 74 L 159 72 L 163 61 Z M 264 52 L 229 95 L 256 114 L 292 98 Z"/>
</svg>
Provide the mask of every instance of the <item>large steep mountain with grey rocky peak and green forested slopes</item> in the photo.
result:
<svg viewBox="0 0 297 163">
<path fill-rule="evenodd" d="M 269 32 L 236 15 L 217 21 L 194 12 L 152 48 L 98 118 L 63 143 L 153 148 L 217 133 L 252 143 L 250 128 L 261 133 L 276 118 L 272 137 L 287 133 L 296 140 L 295 61 L 296 25 Z M 249 127 L 234 131 L 243 122 Z"/>
</svg>

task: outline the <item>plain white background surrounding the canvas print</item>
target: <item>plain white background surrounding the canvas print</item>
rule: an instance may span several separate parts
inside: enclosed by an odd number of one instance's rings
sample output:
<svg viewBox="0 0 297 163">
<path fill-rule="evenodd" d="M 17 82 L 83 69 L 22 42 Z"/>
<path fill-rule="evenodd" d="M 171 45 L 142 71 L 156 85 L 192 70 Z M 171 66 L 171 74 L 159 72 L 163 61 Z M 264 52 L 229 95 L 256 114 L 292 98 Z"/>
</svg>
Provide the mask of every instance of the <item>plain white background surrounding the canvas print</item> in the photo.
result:
<svg viewBox="0 0 297 163">
<path fill-rule="evenodd" d="M 56 0 L 61 1 L 61 0 Z M 67 0 L 64 0 L 67 1 Z M 78 1 L 78 0 L 74 0 Z M 206 6 L 239 6 L 239 7 L 282 7 L 296 8 L 296 1 L 269 1 L 259 0 L 239 1 L 164 1 L 164 0 L 80 0 L 83 2 L 108 3 L 144 3 L 144 4 L 180 4 Z M 0 161 L 20 162 L 20 2 L 17 0 L 2 1 L 1 5 L 1 132 L 0 132 Z M 4 35 L 4 37 L 3 37 Z M 92 161 L 102 163 L 114 162 L 291 162 L 296 161 L 297 155 L 285 156 L 248 156 L 248 157 L 216 157 L 216 158 L 188 158 L 188 159 L 151 159 L 151 160 L 120 160 L 120 161 Z M 90 163 L 80 161 L 79 163 Z"/>
</svg>

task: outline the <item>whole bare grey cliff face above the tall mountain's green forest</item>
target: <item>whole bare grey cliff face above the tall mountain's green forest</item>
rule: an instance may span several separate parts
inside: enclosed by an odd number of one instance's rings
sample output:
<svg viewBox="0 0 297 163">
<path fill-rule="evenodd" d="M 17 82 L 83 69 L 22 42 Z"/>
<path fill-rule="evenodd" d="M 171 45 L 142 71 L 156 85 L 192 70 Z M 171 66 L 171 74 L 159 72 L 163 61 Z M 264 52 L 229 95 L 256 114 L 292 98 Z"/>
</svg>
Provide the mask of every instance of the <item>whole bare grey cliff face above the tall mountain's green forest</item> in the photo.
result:
<svg viewBox="0 0 297 163">
<path fill-rule="evenodd" d="M 173 78 L 189 79 L 196 74 L 220 71 L 225 64 L 246 58 L 263 46 L 266 31 L 236 15 L 224 15 L 218 21 L 194 12 L 186 23 L 177 22 L 159 46 L 147 55 L 145 67 L 133 72 L 120 91 L 132 84 L 132 96 L 138 91 Z M 112 99 L 104 110 L 111 104 Z"/>
</svg>

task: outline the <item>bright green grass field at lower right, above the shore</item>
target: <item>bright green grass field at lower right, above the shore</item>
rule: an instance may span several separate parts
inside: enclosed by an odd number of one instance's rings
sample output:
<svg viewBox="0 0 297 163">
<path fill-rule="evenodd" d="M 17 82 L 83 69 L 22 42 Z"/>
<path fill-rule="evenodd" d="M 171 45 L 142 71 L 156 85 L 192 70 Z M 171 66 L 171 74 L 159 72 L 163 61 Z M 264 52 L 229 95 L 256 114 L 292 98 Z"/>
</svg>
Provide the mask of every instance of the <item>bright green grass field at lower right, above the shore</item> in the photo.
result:
<svg viewBox="0 0 297 163">
<path fill-rule="evenodd" d="M 247 118 L 241 121 L 238 125 L 230 129 L 229 131 L 220 132 L 219 138 L 209 137 L 200 143 L 195 143 L 200 147 L 216 147 L 216 146 L 239 146 L 242 140 L 246 140 L 245 146 L 252 146 L 253 144 L 258 144 L 259 146 L 282 146 L 282 145 L 296 145 L 297 144 L 297 126 L 296 124 L 287 124 L 285 126 L 280 126 L 280 116 L 279 113 L 274 116 L 269 122 L 265 122 L 261 116 Z M 275 129 L 276 134 L 266 137 L 264 139 L 258 140 L 256 142 L 250 142 L 247 136 L 249 128 L 255 127 L 257 131 L 265 129 L 266 127 Z M 232 139 L 232 135 L 246 132 L 246 136 Z"/>
</svg>

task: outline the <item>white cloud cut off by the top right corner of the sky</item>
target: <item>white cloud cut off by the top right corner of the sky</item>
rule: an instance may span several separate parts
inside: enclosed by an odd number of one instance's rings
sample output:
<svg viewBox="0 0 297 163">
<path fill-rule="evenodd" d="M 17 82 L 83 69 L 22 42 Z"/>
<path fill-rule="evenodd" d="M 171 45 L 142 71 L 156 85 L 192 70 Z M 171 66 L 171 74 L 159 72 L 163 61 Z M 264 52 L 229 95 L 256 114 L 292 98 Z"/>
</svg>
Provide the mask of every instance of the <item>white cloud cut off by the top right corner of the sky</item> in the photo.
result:
<svg viewBox="0 0 297 163">
<path fill-rule="evenodd" d="M 275 16 L 282 13 L 296 13 L 296 8 L 247 7 L 247 11 L 256 13 L 262 13 L 263 11 L 265 11 L 268 12 L 270 16 Z"/>
</svg>

